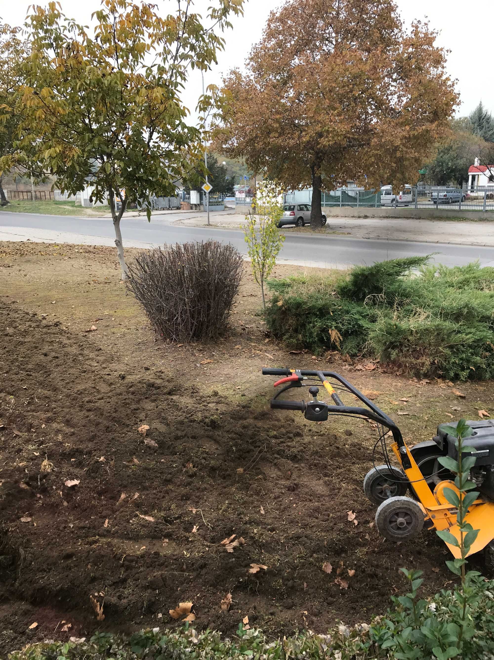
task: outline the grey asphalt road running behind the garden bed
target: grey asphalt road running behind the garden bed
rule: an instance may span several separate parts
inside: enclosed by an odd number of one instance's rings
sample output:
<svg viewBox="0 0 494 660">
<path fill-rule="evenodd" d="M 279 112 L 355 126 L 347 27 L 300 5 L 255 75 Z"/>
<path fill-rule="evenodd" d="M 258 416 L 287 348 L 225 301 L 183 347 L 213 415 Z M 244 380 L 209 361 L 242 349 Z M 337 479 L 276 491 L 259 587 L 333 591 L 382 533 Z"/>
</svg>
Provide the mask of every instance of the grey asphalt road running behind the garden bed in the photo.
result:
<svg viewBox="0 0 494 660">
<path fill-rule="evenodd" d="M 121 222 L 124 246 L 143 247 L 163 245 L 164 243 L 184 243 L 190 240 L 207 240 L 214 238 L 230 243 L 241 253 L 246 253 L 246 244 L 240 230 L 189 227 L 172 224 L 177 215 L 153 216 L 148 223 L 146 218 L 124 218 Z M 42 240 L 43 236 L 51 236 L 57 232 L 60 242 L 72 242 L 70 236 L 74 233 L 84 235 L 84 242 L 97 245 L 102 239 L 109 244 L 115 238 L 113 224 L 106 218 L 75 218 L 67 216 L 50 216 L 0 213 L 0 234 L 12 232 L 7 228 L 20 228 L 32 233 L 32 240 Z M 12 232 L 14 233 L 14 232 Z M 327 267 L 345 267 L 353 264 L 371 264 L 375 261 L 407 257 L 410 255 L 427 255 L 435 253 L 433 260 L 448 266 L 464 265 L 479 259 L 481 265 L 494 266 L 494 248 L 462 246 L 451 244 L 429 244 L 410 241 L 391 241 L 379 239 L 362 239 L 346 236 L 320 234 L 290 233 L 286 235 L 285 243 L 280 253 L 283 260 L 306 265 L 325 265 Z"/>
</svg>

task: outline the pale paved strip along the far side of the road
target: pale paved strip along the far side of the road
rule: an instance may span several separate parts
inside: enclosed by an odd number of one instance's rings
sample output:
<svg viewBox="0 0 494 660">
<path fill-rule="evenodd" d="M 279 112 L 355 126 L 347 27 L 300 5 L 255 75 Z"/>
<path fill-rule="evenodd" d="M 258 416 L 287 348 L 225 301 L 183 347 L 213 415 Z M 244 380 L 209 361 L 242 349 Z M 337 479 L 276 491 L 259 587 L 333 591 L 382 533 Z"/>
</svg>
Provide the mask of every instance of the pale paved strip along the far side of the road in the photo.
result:
<svg viewBox="0 0 494 660">
<path fill-rule="evenodd" d="M 206 226 L 206 218 L 177 218 L 173 224 L 190 227 Z M 211 226 L 242 229 L 246 224 L 243 215 L 211 213 Z M 284 232 L 308 234 L 310 228 L 283 228 Z M 321 233 L 346 234 L 352 238 L 368 238 L 390 241 L 422 243 L 446 243 L 454 245 L 494 246 L 494 222 L 466 220 L 417 220 L 412 218 L 328 218 Z"/>
</svg>

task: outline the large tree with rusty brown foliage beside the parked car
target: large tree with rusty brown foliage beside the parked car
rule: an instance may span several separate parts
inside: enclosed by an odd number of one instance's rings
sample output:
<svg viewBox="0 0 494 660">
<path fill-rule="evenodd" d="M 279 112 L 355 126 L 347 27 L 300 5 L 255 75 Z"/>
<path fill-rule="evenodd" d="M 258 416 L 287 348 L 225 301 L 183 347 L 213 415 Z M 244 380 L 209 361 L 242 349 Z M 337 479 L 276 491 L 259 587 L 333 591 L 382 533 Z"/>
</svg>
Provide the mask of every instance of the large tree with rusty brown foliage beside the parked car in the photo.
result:
<svg viewBox="0 0 494 660">
<path fill-rule="evenodd" d="M 458 96 L 427 23 L 405 29 L 391 0 L 292 0 L 267 20 L 246 71 L 225 79 L 222 152 L 297 189 L 351 179 L 413 183 L 448 133 Z"/>
</svg>

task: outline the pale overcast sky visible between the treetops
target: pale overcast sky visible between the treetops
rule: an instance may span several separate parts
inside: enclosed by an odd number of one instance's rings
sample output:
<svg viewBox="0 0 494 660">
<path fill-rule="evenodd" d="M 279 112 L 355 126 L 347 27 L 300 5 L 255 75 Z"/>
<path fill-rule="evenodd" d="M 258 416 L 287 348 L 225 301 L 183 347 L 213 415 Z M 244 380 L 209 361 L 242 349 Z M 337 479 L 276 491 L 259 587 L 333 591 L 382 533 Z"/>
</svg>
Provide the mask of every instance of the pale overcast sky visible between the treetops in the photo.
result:
<svg viewBox="0 0 494 660">
<path fill-rule="evenodd" d="M 45 5 L 43 0 L 38 3 Z M 176 7 L 175 1 L 155 0 L 159 9 L 169 13 Z M 205 10 L 214 0 L 197 0 L 196 11 Z M 226 48 L 219 55 L 218 66 L 206 76 L 206 85 L 219 84 L 223 73 L 232 67 L 244 65 L 252 44 L 261 38 L 263 26 L 271 9 L 276 9 L 279 0 L 250 0 L 246 2 L 244 16 L 233 18 L 233 30 L 225 33 Z M 479 5 L 468 5 L 463 0 L 397 0 L 401 16 L 406 24 L 416 18 L 428 18 L 430 25 L 439 30 L 437 44 L 451 51 L 448 55 L 448 71 L 457 79 L 461 96 L 460 115 L 470 113 L 480 99 L 484 106 L 494 112 L 494 85 L 492 84 L 492 62 L 489 56 L 494 26 L 494 1 L 487 0 Z M 0 16 L 12 25 L 21 25 L 26 18 L 29 3 L 22 0 L 0 0 Z M 99 8 L 98 0 L 61 0 L 63 12 L 83 24 L 90 23 L 93 11 Z M 206 11 L 204 11 L 206 15 Z M 200 75 L 192 75 L 186 91 L 186 103 L 195 116 L 194 106 L 201 91 Z"/>
</svg>

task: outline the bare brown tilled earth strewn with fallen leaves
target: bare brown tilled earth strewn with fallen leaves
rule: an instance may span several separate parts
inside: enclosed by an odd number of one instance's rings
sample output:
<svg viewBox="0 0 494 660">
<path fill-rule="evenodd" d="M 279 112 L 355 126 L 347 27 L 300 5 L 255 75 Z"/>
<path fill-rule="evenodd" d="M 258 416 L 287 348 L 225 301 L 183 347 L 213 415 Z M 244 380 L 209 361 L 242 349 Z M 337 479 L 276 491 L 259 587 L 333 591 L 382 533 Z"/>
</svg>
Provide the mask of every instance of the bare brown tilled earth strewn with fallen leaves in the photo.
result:
<svg viewBox="0 0 494 660">
<path fill-rule="evenodd" d="M 180 601 L 200 628 L 232 632 L 248 615 L 267 634 L 323 632 L 384 612 L 404 589 L 400 566 L 424 570 L 424 593 L 451 581 L 432 532 L 402 545 L 377 535 L 362 492 L 371 425 L 271 411 L 273 378 L 260 372 L 341 371 L 412 443 L 491 411 L 492 383 L 456 385 L 460 398 L 451 383 L 288 354 L 259 306 L 246 266 L 229 336 L 166 344 L 113 249 L 0 244 L 1 656 L 32 640 L 175 625 Z M 230 553 L 231 535 L 244 544 Z M 267 570 L 251 574 L 253 563 Z"/>
</svg>

